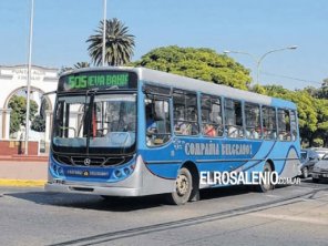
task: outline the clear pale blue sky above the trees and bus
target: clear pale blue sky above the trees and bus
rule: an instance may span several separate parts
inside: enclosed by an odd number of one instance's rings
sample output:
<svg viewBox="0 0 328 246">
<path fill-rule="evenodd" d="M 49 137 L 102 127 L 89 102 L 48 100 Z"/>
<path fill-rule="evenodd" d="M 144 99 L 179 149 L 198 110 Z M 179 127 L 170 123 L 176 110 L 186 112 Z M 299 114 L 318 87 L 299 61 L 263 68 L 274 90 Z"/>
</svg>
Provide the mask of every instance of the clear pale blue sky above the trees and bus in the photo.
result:
<svg viewBox="0 0 328 246">
<path fill-rule="evenodd" d="M 0 0 L 0 65 L 28 63 L 31 0 Z M 250 69 L 260 84 L 319 88 L 328 78 L 327 0 L 107 0 L 135 35 L 133 61 L 167 45 L 211 48 Z M 32 63 L 47 68 L 88 61 L 86 39 L 103 18 L 103 0 L 34 0 Z M 255 58 L 255 59 L 254 59 Z"/>
</svg>

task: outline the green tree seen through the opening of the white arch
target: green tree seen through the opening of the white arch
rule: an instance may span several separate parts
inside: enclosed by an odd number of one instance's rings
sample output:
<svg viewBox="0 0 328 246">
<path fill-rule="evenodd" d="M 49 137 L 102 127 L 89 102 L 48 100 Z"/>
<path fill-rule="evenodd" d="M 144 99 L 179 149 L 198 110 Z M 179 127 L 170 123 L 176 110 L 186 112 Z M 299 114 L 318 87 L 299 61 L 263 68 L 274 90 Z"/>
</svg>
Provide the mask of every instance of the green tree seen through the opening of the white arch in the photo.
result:
<svg viewBox="0 0 328 246">
<path fill-rule="evenodd" d="M 9 101 L 9 107 L 12 110 L 10 115 L 10 133 L 14 133 L 20 130 L 21 125 L 25 125 L 27 99 L 24 96 L 13 95 Z M 37 102 L 30 100 L 30 121 L 33 121 L 37 112 Z"/>
</svg>

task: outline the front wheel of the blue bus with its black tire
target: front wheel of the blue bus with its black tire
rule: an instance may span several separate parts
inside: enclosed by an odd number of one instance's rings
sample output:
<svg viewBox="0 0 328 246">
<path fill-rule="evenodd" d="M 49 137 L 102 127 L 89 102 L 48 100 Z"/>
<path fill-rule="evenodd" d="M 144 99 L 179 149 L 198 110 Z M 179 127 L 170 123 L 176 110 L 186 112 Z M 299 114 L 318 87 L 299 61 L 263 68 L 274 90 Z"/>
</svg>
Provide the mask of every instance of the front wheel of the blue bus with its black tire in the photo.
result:
<svg viewBox="0 0 328 246">
<path fill-rule="evenodd" d="M 183 205 L 191 198 L 193 191 L 193 176 L 188 168 L 182 167 L 175 181 L 175 191 L 167 196 L 167 202 L 173 205 Z"/>
</svg>

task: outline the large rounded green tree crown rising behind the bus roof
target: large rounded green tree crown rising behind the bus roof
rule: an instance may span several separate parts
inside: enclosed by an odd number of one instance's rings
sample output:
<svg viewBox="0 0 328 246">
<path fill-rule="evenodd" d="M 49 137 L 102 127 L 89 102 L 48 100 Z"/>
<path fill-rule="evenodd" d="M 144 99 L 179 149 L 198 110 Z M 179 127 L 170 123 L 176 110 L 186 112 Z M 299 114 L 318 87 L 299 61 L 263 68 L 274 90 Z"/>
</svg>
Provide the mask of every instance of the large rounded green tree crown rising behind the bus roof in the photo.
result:
<svg viewBox="0 0 328 246">
<path fill-rule="evenodd" d="M 205 48 L 157 48 L 133 62 L 134 66 L 170 72 L 193 79 L 247 90 L 249 71 L 227 55 Z"/>
</svg>

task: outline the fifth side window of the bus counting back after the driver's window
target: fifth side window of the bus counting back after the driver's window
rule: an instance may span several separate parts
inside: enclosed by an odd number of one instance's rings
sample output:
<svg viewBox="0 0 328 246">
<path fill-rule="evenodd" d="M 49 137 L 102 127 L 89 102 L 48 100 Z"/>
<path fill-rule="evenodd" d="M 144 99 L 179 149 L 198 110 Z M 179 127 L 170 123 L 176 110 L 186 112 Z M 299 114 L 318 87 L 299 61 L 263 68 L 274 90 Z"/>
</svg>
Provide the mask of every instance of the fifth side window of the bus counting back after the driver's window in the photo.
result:
<svg viewBox="0 0 328 246">
<path fill-rule="evenodd" d="M 263 117 L 263 135 L 265 140 L 277 139 L 277 126 L 276 126 L 276 110 L 269 106 L 262 107 Z"/>
</svg>

